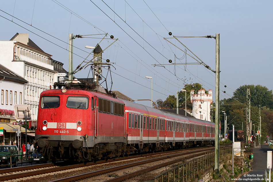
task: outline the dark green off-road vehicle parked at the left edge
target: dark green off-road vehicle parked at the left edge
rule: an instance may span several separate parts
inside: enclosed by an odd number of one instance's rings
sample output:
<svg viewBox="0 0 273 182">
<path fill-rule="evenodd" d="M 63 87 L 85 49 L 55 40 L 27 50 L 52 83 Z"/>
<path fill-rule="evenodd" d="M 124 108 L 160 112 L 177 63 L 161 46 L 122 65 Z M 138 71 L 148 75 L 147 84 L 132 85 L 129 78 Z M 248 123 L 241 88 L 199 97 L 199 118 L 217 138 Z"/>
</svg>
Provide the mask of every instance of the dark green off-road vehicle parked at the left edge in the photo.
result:
<svg viewBox="0 0 273 182">
<path fill-rule="evenodd" d="M 14 164 L 14 167 L 17 167 L 18 164 L 18 149 L 16 145 L 0 145 L 0 164 L 7 164 L 7 167 L 10 167 L 10 157 L 11 163 Z"/>
</svg>

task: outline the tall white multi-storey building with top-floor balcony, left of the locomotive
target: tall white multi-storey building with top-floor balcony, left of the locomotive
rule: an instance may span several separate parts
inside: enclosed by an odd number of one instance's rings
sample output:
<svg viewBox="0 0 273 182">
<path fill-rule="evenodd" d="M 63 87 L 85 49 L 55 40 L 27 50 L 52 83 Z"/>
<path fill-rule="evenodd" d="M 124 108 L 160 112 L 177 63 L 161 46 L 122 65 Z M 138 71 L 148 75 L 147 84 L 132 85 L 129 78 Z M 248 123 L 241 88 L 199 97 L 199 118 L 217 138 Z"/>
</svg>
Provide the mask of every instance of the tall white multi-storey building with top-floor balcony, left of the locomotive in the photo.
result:
<svg viewBox="0 0 273 182">
<path fill-rule="evenodd" d="M 57 82 L 57 72 L 49 60 L 51 55 L 28 46 L 28 41 L 28 33 L 19 33 L 12 41 L 0 41 L 0 64 L 28 81 L 22 104 L 30 105 L 31 118 L 37 120 L 40 94 Z"/>
</svg>

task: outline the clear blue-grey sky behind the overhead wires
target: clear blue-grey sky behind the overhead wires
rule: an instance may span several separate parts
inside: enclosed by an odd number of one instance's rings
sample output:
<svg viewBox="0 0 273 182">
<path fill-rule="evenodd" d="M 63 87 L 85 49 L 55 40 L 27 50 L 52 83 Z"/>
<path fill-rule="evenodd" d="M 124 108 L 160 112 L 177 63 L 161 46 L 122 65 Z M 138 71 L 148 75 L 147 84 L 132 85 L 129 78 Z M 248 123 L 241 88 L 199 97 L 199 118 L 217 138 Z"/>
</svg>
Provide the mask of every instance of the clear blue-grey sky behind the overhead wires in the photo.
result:
<svg viewBox="0 0 273 182">
<path fill-rule="evenodd" d="M 176 63 L 185 63 L 186 61 L 186 58 L 177 59 L 184 55 L 178 49 L 184 50 L 183 46 L 178 41 L 169 39 L 178 47 L 176 48 L 165 41 L 163 37 L 171 38 L 173 35 L 215 36 L 216 33 L 220 33 L 220 99 L 229 98 L 234 90 L 244 84 L 260 84 L 269 90 L 273 89 L 271 56 L 273 1 L 97 0 L 93 2 L 95 5 L 92 1 L 87 0 L 30 0 L 16 1 L 16 3 L 15 0 L 1 1 L 1 16 L 11 20 L 12 17 L 6 14 L 9 13 L 32 26 L 15 18 L 11 22 L 0 17 L 0 40 L 9 40 L 17 32 L 29 33 L 32 41 L 42 50 L 53 55 L 54 60 L 64 63 L 64 68 L 68 70 L 68 51 L 66 50 L 68 46 L 65 43 L 68 41 L 68 33 L 74 35 L 101 33 L 114 35 L 118 41 L 103 53 L 103 59 L 110 59 L 115 63 L 116 70 L 112 68 L 112 90 L 119 90 L 132 99 L 150 99 L 151 82 L 145 79 L 145 76 L 152 76 L 153 100 L 155 101 L 157 99 L 165 100 L 168 95 L 174 95 L 176 90 L 184 88 L 184 84 L 196 82 L 202 83 L 206 90 L 212 89 L 213 96 L 215 96 L 215 74 L 202 65 L 187 65 L 186 67 L 184 65 L 175 67 L 174 65 L 166 65 L 166 69 L 152 65 L 168 64 L 169 59 L 173 63 L 174 61 Z M 70 10 L 61 7 L 60 4 Z M 74 13 L 71 14 L 71 11 Z M 168 35 L 169 31 L 172 32 L 172 36 Z M 83 61 L 83 58 L 86 58 L 87 52 L 90 51 L 84 47 L 86 45 L 95 46 L 101 41 L 102 35 L 93 37 L 99 39 L 74 39 L 76 47 L 74 48 L 76 54 L 74 55 L 74 68 Z M 214 39 L 181 38 L 179 40 L 215 70 Z M 105 49 L 112 41 L 104 39 L 100 46 Z M 190 54 L 189 51 L 187 53 Z M 187 56 L 187 63 L 192 62 L 196 61 Z M 89 69 L 90 67 L 87 67 L 76 73 L 75 76 L 86 78 Z M 107 71 L 103 70 L 103 73 L 106 74 Z M 109 76 L 107 81 L 110 87 Z M 224 85 L 227 87 L 225 88 Z M 226 94 L 223 91 L 226 91 Z M 149 101 L 139 101 L 138 103 L 150 105 Z"/>
</svg>

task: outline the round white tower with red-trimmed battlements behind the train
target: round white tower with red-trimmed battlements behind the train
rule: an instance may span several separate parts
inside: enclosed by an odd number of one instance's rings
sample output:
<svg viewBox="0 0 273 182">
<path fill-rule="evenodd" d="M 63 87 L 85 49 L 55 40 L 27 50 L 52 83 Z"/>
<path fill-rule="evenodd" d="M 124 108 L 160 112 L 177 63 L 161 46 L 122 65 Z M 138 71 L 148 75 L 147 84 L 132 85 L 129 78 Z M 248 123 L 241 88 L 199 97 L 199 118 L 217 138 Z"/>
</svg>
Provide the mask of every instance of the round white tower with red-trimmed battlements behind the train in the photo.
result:
<svg viewBox="0 0 273 182">
<path fill-rule="evenodd" d="M 211 121 L 212 90 L 209 90 L 208 94 L 205 94 L 205 90 L 198 90 L 197 94 L 194 94 L 194 90 L 191 90 L 191 103 L 193 104 L 193 116 L 195 118 Z"/>
</svg>

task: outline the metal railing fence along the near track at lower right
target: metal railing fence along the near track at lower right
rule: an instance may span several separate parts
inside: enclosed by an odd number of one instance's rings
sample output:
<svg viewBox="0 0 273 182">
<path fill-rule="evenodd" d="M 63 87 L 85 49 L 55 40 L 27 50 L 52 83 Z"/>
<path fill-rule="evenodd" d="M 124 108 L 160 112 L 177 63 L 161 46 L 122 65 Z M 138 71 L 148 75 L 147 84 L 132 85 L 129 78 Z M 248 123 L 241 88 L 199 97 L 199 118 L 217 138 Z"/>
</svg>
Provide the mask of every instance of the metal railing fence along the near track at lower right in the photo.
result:
<svg viewBox="0 0 273 182">
<path fill-rule="evenodd" d="M 192 159 L 186 163 L 173 167 L 156 177 L 153 181 L 145 182 L 184 182 L 190 181 L 197 177 L 197 174 L 207 171 L 209 168 L 214 167 L 214 150 L 205 152 L 205 155 L 196 159 Z M 224 147 L 219 150 L 219 160 L 227 154 L 232 154 L 232 147 Z"/>
</svg>

